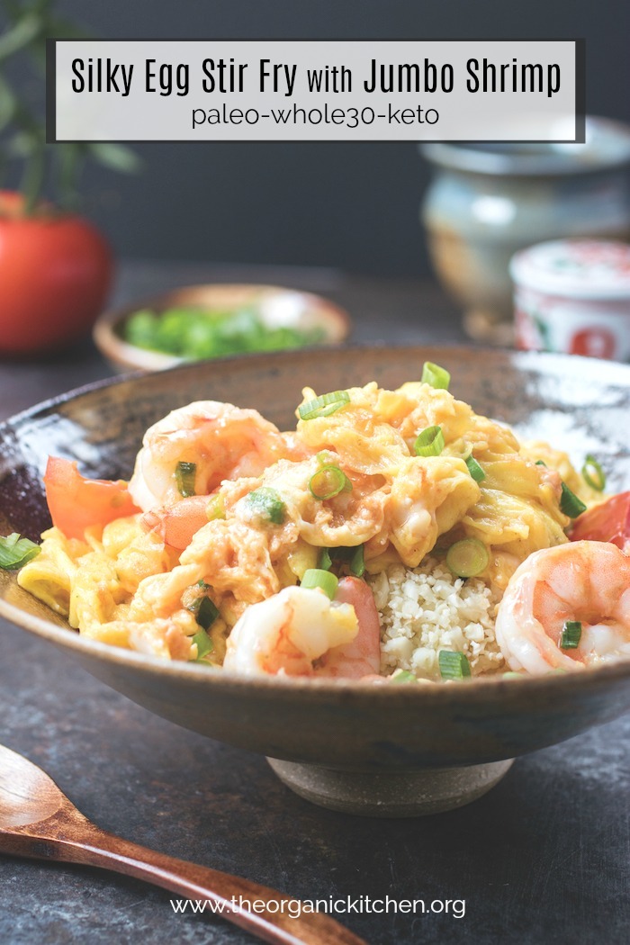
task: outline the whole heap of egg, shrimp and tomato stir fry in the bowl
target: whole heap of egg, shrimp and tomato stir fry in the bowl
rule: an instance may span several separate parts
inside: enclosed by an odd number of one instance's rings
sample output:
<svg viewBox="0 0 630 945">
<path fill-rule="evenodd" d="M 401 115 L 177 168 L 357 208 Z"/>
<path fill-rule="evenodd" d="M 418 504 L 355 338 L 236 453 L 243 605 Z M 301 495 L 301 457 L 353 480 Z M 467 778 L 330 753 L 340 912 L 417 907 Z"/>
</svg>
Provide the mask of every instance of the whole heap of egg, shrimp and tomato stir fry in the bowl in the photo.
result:
<svg viewBox="0 0 630 945">
<path fill-rule="evenodd" d="M 630 657 L 630 492 L 449 393 L 316 396 L 295 431 L 200 401 L 129 482 L 51 456 L 53 527 L 0 563 L 71 627 L 249 677 L 433 682 Z"/>
</svg>

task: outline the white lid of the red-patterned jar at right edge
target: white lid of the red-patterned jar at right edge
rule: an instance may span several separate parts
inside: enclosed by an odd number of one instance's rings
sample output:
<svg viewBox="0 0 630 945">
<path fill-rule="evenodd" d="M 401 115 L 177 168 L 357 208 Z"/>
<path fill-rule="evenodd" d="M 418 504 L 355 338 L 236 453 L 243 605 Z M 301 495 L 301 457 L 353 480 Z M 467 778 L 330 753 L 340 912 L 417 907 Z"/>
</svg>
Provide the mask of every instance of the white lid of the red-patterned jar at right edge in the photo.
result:
<svg viewBox="0 0 630 945">
<path fill-rule="evenodd" d="M 518 285 L 578 299 L 630 298 L 630 246 L 600 240 L 553 240 L 521 249 L 510 274 Z"/>
</svg>

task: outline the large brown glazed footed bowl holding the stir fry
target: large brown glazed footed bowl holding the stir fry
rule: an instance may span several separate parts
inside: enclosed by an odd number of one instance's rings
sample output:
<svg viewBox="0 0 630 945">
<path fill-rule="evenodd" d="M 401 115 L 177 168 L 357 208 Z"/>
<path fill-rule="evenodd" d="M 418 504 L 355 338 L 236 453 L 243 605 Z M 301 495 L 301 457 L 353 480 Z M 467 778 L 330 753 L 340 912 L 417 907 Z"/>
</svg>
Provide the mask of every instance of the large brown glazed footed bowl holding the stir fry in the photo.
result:
<svg viewBox="0 0 630 945">
<path fill-rule="evenodd" d="M 551 440 L 579 465 L 594 453 L 611 491 L 630 486 L 630 367 L 454 348 L 282 352 L 86 387 L 7 421 L 0 530 L 37 538 L 49 524 L 42 487 L 49 453 L 77 458 L 90 476 L 127 478 L 145 428 L 189 401 L 254 406 L 287 428 L 304 384 L 317 392 L 372 379 L 398 387 L 419 377 L 424 360 L 449 369 L 452 392 L 478 412 Z M 152 712 L 267 755 L 298 793 L 337 810 L 409 816 L 459 806 L 496 783 L 516 755 L 630 709 L 630 661 L 579 674 L 422 686 L 239 679 L 83 639 L 22 591 L 13 573 L 0 582 L 0 612 L 9 620 Z"/>
</svg>

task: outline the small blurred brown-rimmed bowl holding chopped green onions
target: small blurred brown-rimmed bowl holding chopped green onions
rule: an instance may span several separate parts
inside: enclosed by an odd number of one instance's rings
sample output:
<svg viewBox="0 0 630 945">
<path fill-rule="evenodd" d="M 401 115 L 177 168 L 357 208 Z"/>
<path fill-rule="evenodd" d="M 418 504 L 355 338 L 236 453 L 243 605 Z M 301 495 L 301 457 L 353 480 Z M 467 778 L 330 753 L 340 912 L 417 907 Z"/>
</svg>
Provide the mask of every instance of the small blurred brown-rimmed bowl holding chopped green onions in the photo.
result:
<svg viewBox="0 0 630 945">
<path fill-rule="evenodd" d="M 344 309 L 311 292 L 279 285 L 217 283 L 173 289 L 105 312 L 94 325 L 94 343 L 111 366 L 120 371 L 163 370 L 187 363 L 174 354 L 148 351 L 129 344 L 124 335 L 125 322 L 134 312 L 148 309 L 159 314 L 179 307 L 228 312 L 247 308 L 259 315 L 269 328 L 321 329 L 321 344 L 325 345 L 344 341 L 351 328 L 349 315 Z"/>
</svg>

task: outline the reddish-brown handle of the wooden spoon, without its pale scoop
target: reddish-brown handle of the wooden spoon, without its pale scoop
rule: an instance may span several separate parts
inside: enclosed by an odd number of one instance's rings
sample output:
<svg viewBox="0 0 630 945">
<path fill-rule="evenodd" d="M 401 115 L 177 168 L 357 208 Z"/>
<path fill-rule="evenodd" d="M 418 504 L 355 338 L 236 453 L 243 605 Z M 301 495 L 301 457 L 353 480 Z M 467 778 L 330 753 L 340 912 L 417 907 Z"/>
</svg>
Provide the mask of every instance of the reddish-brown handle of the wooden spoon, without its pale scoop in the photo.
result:
<svg viewBox="0 0 630 945">
<path fill-rule="evenodd" d="M 367 945 L 324 913 L 298 912 L 298 900 L 268 886 L 149 850 L 91 821 L 83 821 L 80 832 L 64 833 L 37 847 L 33 844 L 30 851 L 21 844 L 14 852 L 111 869 L 170 889 L 182 899 L 207 901 L 205 913 L 234 922 L 272 945 Z M 256 904 L 248 908 L 244 902 Z"/>
</svg>

